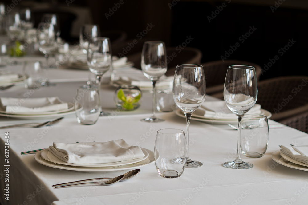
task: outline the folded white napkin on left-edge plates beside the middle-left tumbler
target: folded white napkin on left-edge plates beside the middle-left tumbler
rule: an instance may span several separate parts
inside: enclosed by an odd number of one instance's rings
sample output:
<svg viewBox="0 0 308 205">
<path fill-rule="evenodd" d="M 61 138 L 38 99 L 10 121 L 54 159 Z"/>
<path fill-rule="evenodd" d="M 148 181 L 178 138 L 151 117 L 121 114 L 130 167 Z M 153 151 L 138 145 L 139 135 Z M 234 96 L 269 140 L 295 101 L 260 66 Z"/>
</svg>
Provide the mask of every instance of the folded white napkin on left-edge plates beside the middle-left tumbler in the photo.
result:
<svg viewBox="0 0 308 205">
<path fill-rule="evenodd" d="M 8 113 L 39 113 L 61 111 L 66 109 L 68 109 L 68 104 L 62 102 L 58 97 L 0 98 L 0 110 Z"/>
</svg>

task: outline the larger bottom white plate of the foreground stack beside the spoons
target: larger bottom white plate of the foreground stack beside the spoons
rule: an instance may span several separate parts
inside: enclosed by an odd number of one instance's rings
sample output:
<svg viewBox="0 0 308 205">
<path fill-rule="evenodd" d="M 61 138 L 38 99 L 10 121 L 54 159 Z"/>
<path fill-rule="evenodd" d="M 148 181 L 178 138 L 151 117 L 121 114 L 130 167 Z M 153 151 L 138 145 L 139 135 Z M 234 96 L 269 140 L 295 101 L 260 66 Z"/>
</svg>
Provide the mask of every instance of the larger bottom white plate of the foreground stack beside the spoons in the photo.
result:
<svg viewBox="0 0 308 205">
<path fill-rule="evenodd" d="M 140 168 L 140 167 L 144 167 L 148 164 L 152 164 L 154 163 L 154 152 L 148 149 L 145 149 L 148 153 L 149 156 L 148 158 L 140 161 L 140 162 L 136 162 L 134 164 L 126 164 L 126 165 L 122 165 L 122 166 L 118 166 L 118 167 L 114 167 L 114 168 L 104 168 L 104 167 L 73 167 L 73 166 L 67 166 L 64 164 L 55 164 L 53 162 L 49 162 L 45 159 L 43 159 L 43 157 L 41 157 L 41 152 L 43 151 L 39 151 L 34 155 L 34 159 L 40 163 L 43 164 L 45 166 L 48 167 L 53 167 L 53 168 L 58 168 L 58 169 L 66 169 L 66 170 L 71 170 L 71 171 L 79 171 L 79 172 L 91 172 L 91 173 L 102 173 L 102 172 L 114 172 L 114 171 L 122 171 L 122 170 L 127 170 L 127 169 L 136 169 L 136 168 Z"/>
</svg>

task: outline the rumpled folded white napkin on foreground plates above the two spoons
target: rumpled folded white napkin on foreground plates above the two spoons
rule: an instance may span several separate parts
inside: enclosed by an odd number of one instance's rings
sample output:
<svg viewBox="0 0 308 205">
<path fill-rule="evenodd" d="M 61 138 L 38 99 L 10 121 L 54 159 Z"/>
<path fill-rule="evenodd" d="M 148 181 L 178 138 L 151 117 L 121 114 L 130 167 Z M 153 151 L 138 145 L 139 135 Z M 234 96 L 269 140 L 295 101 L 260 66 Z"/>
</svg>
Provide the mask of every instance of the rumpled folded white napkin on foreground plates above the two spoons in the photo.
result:
<svg viewBox="0 0 308 205">
<path fill-rule="evenodd" d="M 123 139 L 93 145 L 54 142 L 49 151 L 64 162 L 75 164 L 112 163 L 144 157 L 140 147 L 131 146 Z"/>
</svg>

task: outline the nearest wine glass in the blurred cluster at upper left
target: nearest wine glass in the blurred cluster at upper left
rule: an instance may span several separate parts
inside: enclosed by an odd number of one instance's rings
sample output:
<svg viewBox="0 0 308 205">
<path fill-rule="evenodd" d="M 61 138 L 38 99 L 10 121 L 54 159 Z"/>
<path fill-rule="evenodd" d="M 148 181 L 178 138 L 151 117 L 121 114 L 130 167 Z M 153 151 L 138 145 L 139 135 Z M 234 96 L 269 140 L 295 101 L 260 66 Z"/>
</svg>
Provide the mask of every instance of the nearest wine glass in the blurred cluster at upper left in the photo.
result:
<svg viewBox="0 0 308 205">
<path fill-rule="evenodd" d="M 57 42 L 55 37 L 54 25 L 52 23 L 41 22 L 38 25 L 38 43 L 39 50 L 44 54 L 47 66 L 50 68 L 48 63 L 48 57 L 52 51 L 57 48 Z M 42 83 L 44 86 L 49 86 L 51 83 L 48 78 Z"/>
</svg>

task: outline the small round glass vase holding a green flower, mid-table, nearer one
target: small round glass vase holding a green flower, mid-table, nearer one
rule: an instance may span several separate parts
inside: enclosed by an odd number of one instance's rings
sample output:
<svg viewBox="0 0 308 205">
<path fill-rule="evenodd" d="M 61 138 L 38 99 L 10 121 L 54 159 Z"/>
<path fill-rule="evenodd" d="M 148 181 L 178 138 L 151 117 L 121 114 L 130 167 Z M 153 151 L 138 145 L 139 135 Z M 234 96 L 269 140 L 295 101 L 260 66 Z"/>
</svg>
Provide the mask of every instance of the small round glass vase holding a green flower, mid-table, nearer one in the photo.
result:
<svg viewBox="0 0 308 205">
<path fill-rule="evenodd" d="M 115 106 L 120 110 L 136 110 L 141 104 L 142 92 L 135 85 L 120 85 L 115 90 Z"/>
</svg>

